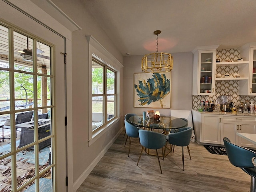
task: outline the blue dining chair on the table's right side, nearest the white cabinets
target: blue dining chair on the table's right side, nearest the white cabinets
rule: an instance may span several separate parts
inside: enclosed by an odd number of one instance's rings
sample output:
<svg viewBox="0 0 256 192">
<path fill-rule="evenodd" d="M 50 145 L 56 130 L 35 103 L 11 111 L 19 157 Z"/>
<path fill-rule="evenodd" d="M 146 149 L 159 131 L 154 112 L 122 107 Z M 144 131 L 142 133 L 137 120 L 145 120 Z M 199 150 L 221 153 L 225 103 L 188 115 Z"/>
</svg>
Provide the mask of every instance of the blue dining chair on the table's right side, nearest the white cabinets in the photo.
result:
<svg viewBox="0 0 256 192">
<path fill-rule="evenodd" d="M 180 129 L 178 129 L 178 132 L 170 133 L 166 136 L 166 140 L 170 144 L 172 144 L 174 146 L 176 145 L 176 146 L 181 146 L 182 147 L 183 170 L 184 170 L 184 150 L 183 150 L 183 147 L 187 146 L 190 160 L 192 160 L 191 155 L 190 155 L 190 150 L 189 150 L 189 147 L 188 147 L 188 145 L 190 143 L 190 138 L 191 138 L 191 135 L 192 135 L 192 130 L 193 130 L 192 127 L 180 128 Z M 164 151 L 165 151 L 165 149 L 164 149 Z M 171 150 L 172 150 L 172 148 L 171 148 Z"/>
</svg>

